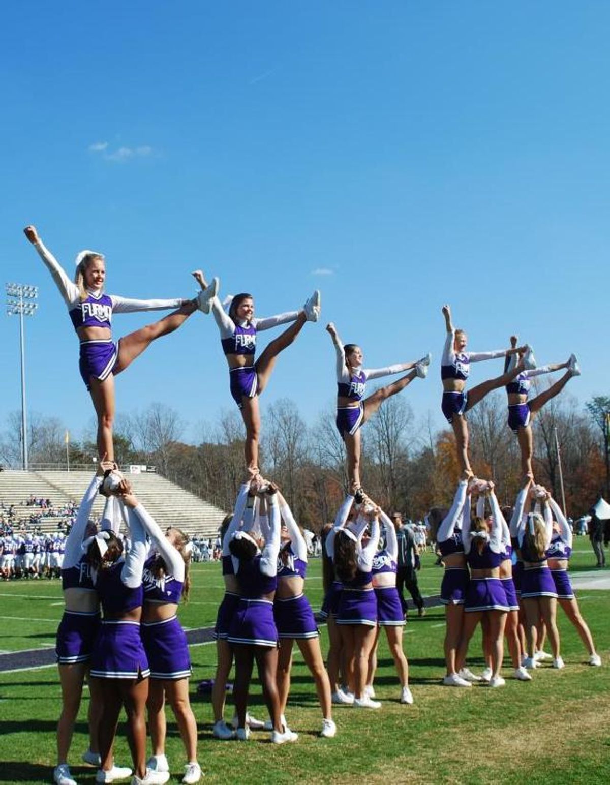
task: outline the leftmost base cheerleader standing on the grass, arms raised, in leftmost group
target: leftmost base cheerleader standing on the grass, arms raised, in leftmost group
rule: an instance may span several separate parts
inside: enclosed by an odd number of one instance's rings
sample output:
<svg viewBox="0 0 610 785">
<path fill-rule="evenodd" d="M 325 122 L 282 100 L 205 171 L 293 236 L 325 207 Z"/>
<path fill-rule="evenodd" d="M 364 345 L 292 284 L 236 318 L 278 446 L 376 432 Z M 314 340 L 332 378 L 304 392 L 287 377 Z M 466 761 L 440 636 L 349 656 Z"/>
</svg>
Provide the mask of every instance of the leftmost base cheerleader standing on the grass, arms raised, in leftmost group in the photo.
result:
<svg viewBox="0 0 610 785">
<path fill-rule="evenodd" d="M 93 644 L 100 628 L 100 603 L 95 586 L 82 551 L 84 539 L 96 534 L 96 526 L 89 521 L 89 514 L 97 491 L 104 478 L 104 472 L 112 469 L 113 464 L 100 462 L 97 473 L 89 483 L 82 497 L 79 513 L 68 539 L 61 571 L 61 586 L 64 590 L 65 609 L 57 630 L 57 667 L 60 674 L 62 709 L 57 723 L 57 767 L 53 780 L 57 785 L 73 785 L 68 767 L 68 751 L 82 697 L 82 685 L 89 670 Z M 91 765 L 100 765 L 97 746 L 97 730 L 103 692 L 96 679 L 89 680 L 89 749 L 82 760 Z M 131 769 L 113 766 L 116 779 L 130 776 Z"/>
</svg>

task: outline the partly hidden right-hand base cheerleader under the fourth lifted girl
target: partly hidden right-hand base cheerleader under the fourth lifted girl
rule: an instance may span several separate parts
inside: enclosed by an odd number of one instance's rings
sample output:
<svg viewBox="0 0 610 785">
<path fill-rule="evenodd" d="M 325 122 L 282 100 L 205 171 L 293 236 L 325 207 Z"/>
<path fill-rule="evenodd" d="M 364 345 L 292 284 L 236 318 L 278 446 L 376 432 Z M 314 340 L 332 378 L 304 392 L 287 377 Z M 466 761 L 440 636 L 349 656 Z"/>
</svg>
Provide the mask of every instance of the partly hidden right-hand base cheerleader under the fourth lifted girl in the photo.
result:
<svg viewBox="0 0 610 785">
<path fill-rule="evenodd" d="M 495 514 L 496 514 L 495 510 L 499 510 L 500 524 L 502 525 L 502 541 L 500 542 L 500 582 L 502 582 L 502 588 L 504 589 L 504 593 L 506 594 L 506 604 L 509 608 L 509 611 L 506 614 L 506 626 L 504 628 L 504 635 L 508 643 L 510 659 L 513 663 L 513 668 L 514 668 L 513 676 L 518 681 L 531 681 L 530 674 L 528 674 L 528 671 L 525 670 L 524 666 L 521 665 L 521 659 L 523 658 L 524 648 L 522 648 L 521 646 L 521 634 L 519 630 L 519 601 L 517 599 L 517 590 L 515 589 L 515 585 L 513 582 L 513 546 L 511 544 L 511 539 L 510 539 L 510 529 L 508 524 L 506 523 L 504 512 L 502 511 L 502 509 L 499 508 L 498 500 L 495 496 L 495 491 L 493 488 L 490 489 L 488 494 L 479 496 L 477 500 L 477 517 L 480 518 L 485 517 L 486 498 L 494 499 L 491 512 L 487 517 L 488 529 L 491 530 L 491 527 L 494 525 Z M 488 630 L 486 630 L 485 626 L 483 627 L 483 629 L 484 629 L 484 641 L 487 642 Z M 522 628 L 521 628 L 521 632 L 522 632 Z M 482 681 L 490 681 L 491 676 L 493 675 L 493 667 L 491 664 L 491 652 L 488 649 L 489 647 L 486 646 L 485 655 L 488 661 L 488 666 L 484 669 L 483 673 L 481 674 Z"/>
</svg>

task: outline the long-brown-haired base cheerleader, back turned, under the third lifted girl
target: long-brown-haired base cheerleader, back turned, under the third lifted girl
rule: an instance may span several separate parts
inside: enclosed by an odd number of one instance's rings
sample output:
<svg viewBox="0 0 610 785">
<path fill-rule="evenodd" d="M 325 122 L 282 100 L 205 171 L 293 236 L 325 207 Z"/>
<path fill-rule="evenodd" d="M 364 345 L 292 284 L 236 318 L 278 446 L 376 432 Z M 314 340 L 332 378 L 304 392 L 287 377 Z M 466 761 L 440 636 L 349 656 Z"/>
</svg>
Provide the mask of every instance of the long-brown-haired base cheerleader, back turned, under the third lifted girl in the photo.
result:
<svg viewBox="0 0 610 785">
<path fill-rule="evenodd" d="M 367 503 L 363 515 L 356 520 L 358 534 L 346 528 L 344 521 L 328 535 L 333 538 L 334 571 L 343 585 L 337 624 L 345 650 L 346 675 L 354 694 L 353 706 L 365 709 L 380 709 L 382 706 L 366 692 L 368 659 L 377 628 L 372 567 L 379 542 L 379 513 L 378 507 Z M 371 524 L 371 537 L 363 546 L 361 540 L 367 523 Z"/>
</svg>

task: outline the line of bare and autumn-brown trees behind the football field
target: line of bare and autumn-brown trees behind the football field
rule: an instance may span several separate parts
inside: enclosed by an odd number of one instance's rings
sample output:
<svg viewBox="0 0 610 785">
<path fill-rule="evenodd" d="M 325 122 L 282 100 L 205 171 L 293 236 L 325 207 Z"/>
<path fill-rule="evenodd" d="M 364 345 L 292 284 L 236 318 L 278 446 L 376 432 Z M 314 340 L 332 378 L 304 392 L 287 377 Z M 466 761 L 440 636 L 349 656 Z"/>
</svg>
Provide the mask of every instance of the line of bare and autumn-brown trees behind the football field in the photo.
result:
<svg viewBox="0 0 610 785">
<path fill-rule="evenodd" d="M 261 469 L 272 476 L 300 523 L 314 531 L 333 520 L 345 494 L 345 450 L 334 426 L 334 408 L 307 425 L 297 404 L 277 400 L 263 412 Z M 601 493 L 610 497 L 608 427 L 610 397 L 597 396 L 580 408 L 575 398 L 559 396 L 535 418 L 534 466 L 539 483 L 561 503 L 561 469 L 568 515 L 586 513 Z M 214 424 L 201 425 L 199 444 L 181 440 L 186 428 L 176 411 L 152 403 L 115 423 L 115 455 L 120 465 L 148 464 L 177 484 L 232 509 L 243 479 L 243 424 L 232 409 Z M 471 460 L 478 476 L 495 480 L 501 504 L 512 504 L 521 481 L 517 439 L 506 425 L 506 396 L 496 392 L 469 412 Z M 96 455 L 93 425 L 71 440 L 72 466 L 90 465 Z M 31 414 L 28 450 L 31 468 L 67 463 L 65 427 L 58 418 Z M 20 466 L 20 414 L 10 414 L 0 440 L 0 461 Z M 416 422 L 409 404 L 393 397 L 363 429 L 363 485 L 385 509 L 413 520 L 431 506 L 447 506 L 458 481 L 455 441 L 450 429 Z"/>
</svg>

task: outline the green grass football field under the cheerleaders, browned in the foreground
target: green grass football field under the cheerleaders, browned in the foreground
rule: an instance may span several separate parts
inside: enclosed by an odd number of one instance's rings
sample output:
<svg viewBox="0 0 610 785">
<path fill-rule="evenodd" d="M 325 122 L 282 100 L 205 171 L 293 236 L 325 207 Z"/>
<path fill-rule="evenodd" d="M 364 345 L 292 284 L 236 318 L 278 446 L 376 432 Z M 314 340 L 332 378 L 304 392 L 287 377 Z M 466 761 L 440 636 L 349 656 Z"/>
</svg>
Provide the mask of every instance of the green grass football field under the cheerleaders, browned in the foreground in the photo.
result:
<svg viewBox="0 0 610 785">
<path fill-rule="evenodd" d="M 591 569 L 588 541 L 575 542 L 572 572 Z M 438 593 L 442 571 L 431 554 L 423 558 L 420 586 Z M 191 602 L 181 609 L 185 627 L 214 623 L 223 586 L 218 564 L 195 565 Z M 320 608 L 320 561 L 309 568 L 308 595 Z M 320 710 L 299 654 L 295 654 L 287 709 L 298 742 L 272 747 L 268 734 L 254 733 L 247 744 L 218 742 L 211 734 L 211 707 L 195 695 L 201 679 L 214 676 L 214 644 L 192 647 L 192 703 L 199 723 L 199 761 L 208 782 L 338 783 L 366 778 L 373 782 L 413 783 L 608 783 L 610 782 L 610 591 L 580 590 L 579 601 L 604 665 L 586 665 L 575 630 L 558 613 L 566 668 L 539 669 L 534 681 L 507 678 L 506 687 L 489 690 L 444 688 L 444 611 L 432 608 L 407 624 L 404 648 L 410 663 L 415 705 L 399 703 L 400 689 L 382 638 L 375 689 L 379 711 L 336 707 L 335 739 L 320 739 Z M 51 647 L 62 613 L 58 581 L 19 581 L 0 585 L 0 650 Z M 323 627 L 323 650 L 327 648 Z M 506 662 L 506 660 L 505 660 Z M 480 637 L 470 648 L 469 664 L 480 668 Z M 510 668 L 505 668 L 505 676 Z M 230 698 L 229 698 L 230 702 Z M 85 692 L 71 749 L 71 770 L 79 783 L 93 783 L 94 770 L 79 765 L 87 746 Z M 254 714 L 265 717 L 258 685 Z M 55 725 L 60 688 L 55 666 L 0 674 L 0 783 L 52 782 Z M 231 709 L 226 713 L 230 717 Z M 130 760 L 124 725 L 116 743 L 119 763 Z M 167 756 L 179 782 L 184 752 L 174 718 L 168 716 Z"/>
</svg>

